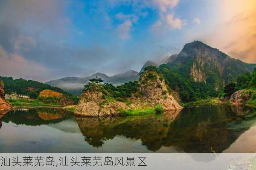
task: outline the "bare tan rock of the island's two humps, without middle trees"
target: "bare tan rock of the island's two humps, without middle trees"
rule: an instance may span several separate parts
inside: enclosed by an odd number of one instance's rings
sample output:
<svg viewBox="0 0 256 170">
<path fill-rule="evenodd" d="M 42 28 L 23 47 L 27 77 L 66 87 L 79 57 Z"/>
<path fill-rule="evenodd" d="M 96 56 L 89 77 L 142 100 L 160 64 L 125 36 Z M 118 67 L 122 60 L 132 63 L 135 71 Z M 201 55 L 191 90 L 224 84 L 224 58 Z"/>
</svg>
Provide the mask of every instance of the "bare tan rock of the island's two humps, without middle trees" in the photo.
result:
<svg viewBox="0 0 256 170">
<path fill-rule="evenodd" d="M 115 99 L 106 100 L 102 93 L 102 85 L 93 83 L 93 87 L 84 90 L 80 97 L 75 114 L 80 116 L 118 116 L 120 109 L 141 109 L 162 105 L 165 111 L 180 110 L 182 107 L 177 103 L 172 95 L 169 94 L 162 75 L 155 71 L 144 71 L 139 82 L 139 89 L 136 92 L 141 94 L 135 97 L 133 94 L 129 98 L 132 104 L 119 102 Z"/>
</svg>

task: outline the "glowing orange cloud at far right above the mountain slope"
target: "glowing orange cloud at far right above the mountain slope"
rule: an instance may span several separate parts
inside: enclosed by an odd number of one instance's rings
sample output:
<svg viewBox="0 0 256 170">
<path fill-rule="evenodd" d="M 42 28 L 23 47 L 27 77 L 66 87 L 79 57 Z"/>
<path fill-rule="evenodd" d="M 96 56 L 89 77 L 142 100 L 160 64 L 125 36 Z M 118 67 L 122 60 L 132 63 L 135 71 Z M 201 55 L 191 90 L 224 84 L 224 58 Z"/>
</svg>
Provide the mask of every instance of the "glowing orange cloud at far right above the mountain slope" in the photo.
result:
<svg viewBox="0 0 256 170">
<path fill-rule="evenodd" d="M 255 18 L 255 10 L 234 13 L 230 20 L 220 23 L 211 33 L 205 33 L 202 40 L 230 57 L 256 63 Z"/>
</svg>

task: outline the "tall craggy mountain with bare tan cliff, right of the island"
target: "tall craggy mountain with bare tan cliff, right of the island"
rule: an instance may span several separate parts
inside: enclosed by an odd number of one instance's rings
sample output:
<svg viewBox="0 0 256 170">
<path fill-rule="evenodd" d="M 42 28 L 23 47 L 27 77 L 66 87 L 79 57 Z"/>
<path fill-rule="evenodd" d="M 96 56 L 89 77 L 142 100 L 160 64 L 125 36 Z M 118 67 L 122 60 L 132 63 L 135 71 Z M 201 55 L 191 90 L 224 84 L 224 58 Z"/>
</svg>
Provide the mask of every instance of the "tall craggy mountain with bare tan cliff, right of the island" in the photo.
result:
<svg viewBox="0 0 256 170">
<path fill-rule="evenodd" d="M 176 68 L 182 76 L 192 78 L 195 82 L 212 85 L 217 91 L 228 82 L 236 80 L 239 75 L 251 72 L 256 67 L 256 64 L 247 64 L 231 58 L 200 41 L 184 45 L 176 59 L 167 65 Z"/>
</svg>

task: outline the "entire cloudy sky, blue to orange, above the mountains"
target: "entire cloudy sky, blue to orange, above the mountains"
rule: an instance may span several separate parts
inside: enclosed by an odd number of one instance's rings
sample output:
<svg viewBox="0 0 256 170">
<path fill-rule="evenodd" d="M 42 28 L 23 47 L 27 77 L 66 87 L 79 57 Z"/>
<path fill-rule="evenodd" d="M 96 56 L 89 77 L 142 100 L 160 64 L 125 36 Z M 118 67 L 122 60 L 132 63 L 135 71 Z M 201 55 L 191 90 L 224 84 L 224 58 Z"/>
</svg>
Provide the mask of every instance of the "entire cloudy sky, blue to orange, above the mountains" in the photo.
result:
<svg viewBox="0 0 256 170">
<path fill-rule="evenodd" d="M 256 63 L 255 0 L 0 0 L 0 75 L 140 71 L 200 40 Z"/>
</svg>

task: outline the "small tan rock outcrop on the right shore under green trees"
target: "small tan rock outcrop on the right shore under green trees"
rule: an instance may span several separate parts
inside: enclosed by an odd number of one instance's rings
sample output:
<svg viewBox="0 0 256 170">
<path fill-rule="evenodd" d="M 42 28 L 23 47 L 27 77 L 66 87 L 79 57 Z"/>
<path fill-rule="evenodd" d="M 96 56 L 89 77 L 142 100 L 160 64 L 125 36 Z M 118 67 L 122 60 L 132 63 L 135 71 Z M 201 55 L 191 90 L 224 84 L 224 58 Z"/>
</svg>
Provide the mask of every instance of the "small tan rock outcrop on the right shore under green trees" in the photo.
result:
<svg viewBox="0 0 256 170">
<path fill-rule="evenodd" d="M 250 94 L 245 90 L 239 90 L 230 96 L 230 101 L 234 102 L 235 105 L 241 105 L 250 99 Z"/>
</svg>

